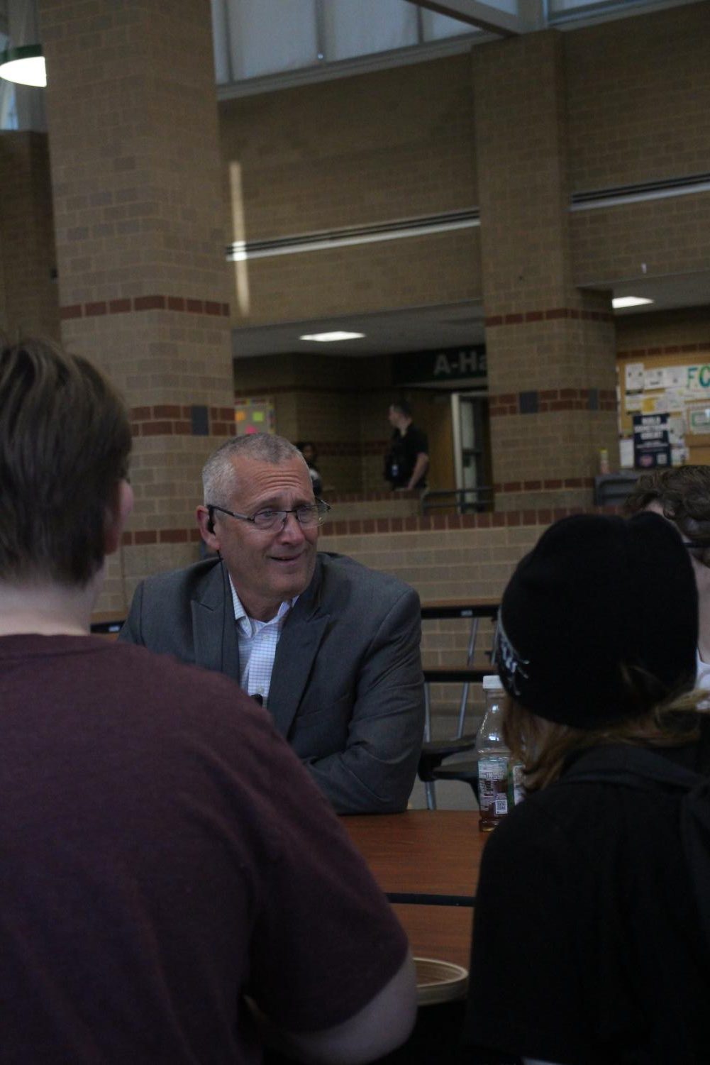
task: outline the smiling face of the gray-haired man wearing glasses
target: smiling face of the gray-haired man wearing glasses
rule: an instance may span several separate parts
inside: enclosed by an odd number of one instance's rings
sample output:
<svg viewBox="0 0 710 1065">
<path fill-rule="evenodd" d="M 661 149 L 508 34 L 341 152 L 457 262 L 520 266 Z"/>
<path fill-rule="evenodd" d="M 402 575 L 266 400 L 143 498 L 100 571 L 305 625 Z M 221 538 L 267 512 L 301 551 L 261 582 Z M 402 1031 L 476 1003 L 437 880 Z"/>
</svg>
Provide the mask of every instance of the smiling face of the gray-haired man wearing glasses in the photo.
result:
<svg viewBox="0 0 710 1065">
<path fill-rule="evenodd" d="M 252 518 L 259 510 L 293 510 L 313 504 L 308 466 L 300 456 L 285 462 L 232 459 L 235 489 L 229 510 Z M 269 621 L 284 600 L 306 591 L 315 569 L 317 525 L 301 528 L 295 514 L 285 525 L 258 529 L 251 522 L 214 512 L 215 538 L 242 605 L 251 618 Z"/>
</svg>

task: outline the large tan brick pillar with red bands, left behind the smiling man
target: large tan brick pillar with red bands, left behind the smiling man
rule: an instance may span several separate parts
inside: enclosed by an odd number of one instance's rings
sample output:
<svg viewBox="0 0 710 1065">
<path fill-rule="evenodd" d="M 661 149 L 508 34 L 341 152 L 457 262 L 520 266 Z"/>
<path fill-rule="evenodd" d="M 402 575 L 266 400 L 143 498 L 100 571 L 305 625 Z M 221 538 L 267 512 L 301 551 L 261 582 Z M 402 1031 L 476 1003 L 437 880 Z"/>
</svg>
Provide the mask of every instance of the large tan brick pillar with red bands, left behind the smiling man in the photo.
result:
<svg viewBox="0 0 710 1065">
<path fill-rule="evenodd" d="M 136 506 L 100 609 L 198 557 L 200 468 L 233 433 L 210 6 L 39 0 L 62 335 L 132 410 Z"/>
</svg>

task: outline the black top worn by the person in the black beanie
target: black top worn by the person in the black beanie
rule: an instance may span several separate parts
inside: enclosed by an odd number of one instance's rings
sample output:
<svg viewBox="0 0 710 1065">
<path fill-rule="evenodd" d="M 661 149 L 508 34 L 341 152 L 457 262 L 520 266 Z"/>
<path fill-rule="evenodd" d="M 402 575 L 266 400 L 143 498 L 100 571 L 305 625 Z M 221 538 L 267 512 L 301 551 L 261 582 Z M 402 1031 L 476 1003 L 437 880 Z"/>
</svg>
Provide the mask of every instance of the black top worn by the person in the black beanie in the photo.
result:
<svg viewBox="0 0 710 1065">
<path fill-rule="evenodd" d="M 600 751 L 571 761 L 486 843 L 467 1061 L 708 1060 L 710 945 L 682 845 L 683 792 L 574 783 Z M 707 775 L 707 752 L 706 721 L 701 743 L 658 753 Z"/>
</svg>

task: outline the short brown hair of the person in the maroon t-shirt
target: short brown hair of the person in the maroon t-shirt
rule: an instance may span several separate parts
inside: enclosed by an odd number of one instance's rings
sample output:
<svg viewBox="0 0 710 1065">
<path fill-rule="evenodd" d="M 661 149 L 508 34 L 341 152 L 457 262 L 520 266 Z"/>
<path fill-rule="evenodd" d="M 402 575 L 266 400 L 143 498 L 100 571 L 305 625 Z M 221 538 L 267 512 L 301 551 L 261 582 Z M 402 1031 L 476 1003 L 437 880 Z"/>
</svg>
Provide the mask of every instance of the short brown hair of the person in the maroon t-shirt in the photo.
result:
<svg viewBox="0 0 710 1065">
<path fill-rule="evenodd" d="M 49 341 L 3 343 L 0 580 L 85 585 L 130 450 L 123 402 L 90 362 Z"/>
</svg>

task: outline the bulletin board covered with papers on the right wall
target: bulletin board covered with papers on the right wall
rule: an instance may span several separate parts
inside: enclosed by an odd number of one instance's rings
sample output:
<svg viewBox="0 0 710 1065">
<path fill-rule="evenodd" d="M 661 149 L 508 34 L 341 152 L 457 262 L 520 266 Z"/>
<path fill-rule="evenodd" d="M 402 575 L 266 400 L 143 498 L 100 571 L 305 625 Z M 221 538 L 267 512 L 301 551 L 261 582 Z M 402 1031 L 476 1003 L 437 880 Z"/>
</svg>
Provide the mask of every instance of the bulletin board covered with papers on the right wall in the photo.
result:
<svg viewBox="0 0 710 1065">
<path fill-rule="evenodd" d="M 617 361 L 621 465 L 633 466 L 633 417 L 667 415 L 673 465 L 710 464 L 710 348 Z"/>
</svg>

